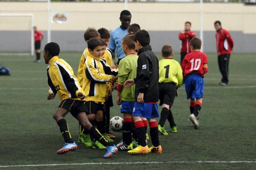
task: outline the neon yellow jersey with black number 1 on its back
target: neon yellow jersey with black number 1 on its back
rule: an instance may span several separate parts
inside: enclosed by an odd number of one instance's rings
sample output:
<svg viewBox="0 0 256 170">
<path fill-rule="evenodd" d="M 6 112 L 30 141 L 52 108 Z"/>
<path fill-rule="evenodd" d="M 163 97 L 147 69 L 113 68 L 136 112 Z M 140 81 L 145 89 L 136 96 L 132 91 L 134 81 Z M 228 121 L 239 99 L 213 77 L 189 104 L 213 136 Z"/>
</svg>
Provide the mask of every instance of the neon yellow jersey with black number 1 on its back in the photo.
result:
<svg viewBox="0 0 256 170">
<path fill-rule="evenodd" d="M 182 84 L 182 70 L 180 64 L 172 58 L 163 58 L 159 61 L 159 83 L 175 83 L 176 87 Z"/>
</svg>

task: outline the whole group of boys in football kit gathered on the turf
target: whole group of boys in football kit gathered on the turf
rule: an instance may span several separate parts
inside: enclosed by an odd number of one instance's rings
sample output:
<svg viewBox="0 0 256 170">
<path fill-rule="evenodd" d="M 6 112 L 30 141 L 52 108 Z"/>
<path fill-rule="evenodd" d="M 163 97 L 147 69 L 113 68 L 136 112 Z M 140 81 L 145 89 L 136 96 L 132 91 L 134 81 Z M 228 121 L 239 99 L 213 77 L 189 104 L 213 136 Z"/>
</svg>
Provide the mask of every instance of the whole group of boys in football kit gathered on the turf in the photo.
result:
<svg viewBox="0 0 256 170">
<path fill-rule="evenodd" d="M 64 139 L 64 146 L 57 154 L 77 149 L 64 119 L 68 112 L 79 121 L 78 142 L 87 147 L 106 148 L 103 158 L 109 158 L 117 151 L 161 153 L 158 132 L 168 135 L 164 129 L 165 121 L 169 121 L 172 132 L 177 132 L 171 107 L 182 84 L 182 73 L 187 77 L 187 98 L 191 99 L 189 119 L 194 128 L 199 128 L 196 117 L 202 105 L 203 77 L 207 72 L 207 56 L 199 51 L 201 40 L 193 38 L 190 41 L 192 52 L 186 55 L 180 67 L 172 59 L 171 45 L 163 46 L 164 59 L 158 62 L 149 45 L 148 32 L 140 30 L 138 24 L 132 24 L 129 29 L 121 44 L 125 58 L 119 60 L 117 66 L 112 51 L 107 48 L 110 39 L 108 30 L 88 28 L 84 33 L 87 48 L 81 56 L 77 78 L 68 63 L 58 58 L 59 45 L 45 45 L 44 60 L 49 64 L 47 75 L 50 87 L 47 99 L 53 99 L 58 93 L 61 100 L 53 115 Z M 108 131 L 114 83 L 117 87 L 116 103 L 120 105 L 124 117 L 123 141 L 117 146 L 111 139 L 115 136 Z M 159 117 L 158 99 L 163 105 L 159 123 L 155 119 Z M 147 142 L 148 124 L 151 147 Z M 132 137 L 136 143 L 132 142 Z"/>
</svg>

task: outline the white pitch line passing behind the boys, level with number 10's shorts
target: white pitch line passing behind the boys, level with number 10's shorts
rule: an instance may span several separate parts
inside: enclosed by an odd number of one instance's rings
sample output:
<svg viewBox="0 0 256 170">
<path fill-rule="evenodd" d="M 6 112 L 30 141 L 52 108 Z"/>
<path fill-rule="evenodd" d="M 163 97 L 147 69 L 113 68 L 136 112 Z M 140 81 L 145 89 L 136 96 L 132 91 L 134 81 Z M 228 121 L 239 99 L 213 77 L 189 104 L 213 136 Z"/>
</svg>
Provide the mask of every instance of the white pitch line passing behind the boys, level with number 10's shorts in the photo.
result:
<svg viewBox="0 0 256 170">
<path fill-rule="evenodd" d="M 204 87 L 204 89 L 241 89 L 241 88 L 256 88 L 256 85 Z M 185 89 L 185 87 L 181 87 L 179 89 Z M 49 90 L 49 89 L 48 88 L 0 88 L 0 90 Z"/>
</svg>

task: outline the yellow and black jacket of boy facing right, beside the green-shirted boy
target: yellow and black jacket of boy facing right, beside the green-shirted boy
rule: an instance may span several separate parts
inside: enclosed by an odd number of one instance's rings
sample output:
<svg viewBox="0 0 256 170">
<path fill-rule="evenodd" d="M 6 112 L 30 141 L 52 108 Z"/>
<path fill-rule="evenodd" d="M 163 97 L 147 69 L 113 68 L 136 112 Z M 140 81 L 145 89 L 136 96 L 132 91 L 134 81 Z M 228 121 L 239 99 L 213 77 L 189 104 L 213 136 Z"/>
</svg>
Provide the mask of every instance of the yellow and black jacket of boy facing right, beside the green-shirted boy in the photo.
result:
<svg viewBox="0 0 256 170">
<path fill-rule="evenodd" d="M 105 67 L 108 68 L 108 71 Z M 83 74 L 82 88 L 85 92 L 85 100 L 105 102 L 106 82 L 112 79 L 110 67 L 100 58 L 89 54 L 85 60 L 83 70 L 85 71 Z"/>
</svg>

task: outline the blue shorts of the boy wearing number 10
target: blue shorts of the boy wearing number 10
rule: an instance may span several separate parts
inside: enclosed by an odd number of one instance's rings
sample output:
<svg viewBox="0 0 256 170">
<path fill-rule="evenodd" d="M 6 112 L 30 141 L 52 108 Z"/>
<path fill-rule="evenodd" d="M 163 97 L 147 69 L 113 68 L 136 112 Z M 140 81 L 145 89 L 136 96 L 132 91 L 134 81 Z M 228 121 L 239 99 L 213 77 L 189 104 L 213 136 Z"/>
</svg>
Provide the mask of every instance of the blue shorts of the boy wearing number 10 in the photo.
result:
<svg viewBox="0 0 256 170">
<path fill-rule="evenodd" d="M 204 79 L 199 74 L 189 74 L 186 78 L 185 89 L 187 99 L 201 98 L 204 96 Z"/>
</svg>

